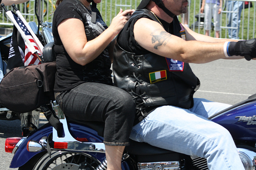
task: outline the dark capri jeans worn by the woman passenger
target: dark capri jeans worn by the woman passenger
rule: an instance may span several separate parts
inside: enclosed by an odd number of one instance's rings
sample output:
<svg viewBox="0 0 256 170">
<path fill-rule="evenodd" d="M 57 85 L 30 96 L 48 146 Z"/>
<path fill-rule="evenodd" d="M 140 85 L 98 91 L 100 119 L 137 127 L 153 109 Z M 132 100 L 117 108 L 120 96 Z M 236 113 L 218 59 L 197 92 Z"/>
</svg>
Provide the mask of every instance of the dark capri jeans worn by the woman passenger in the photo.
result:
<svg viewBox="0 0 256 170">
<path fill-rule="evenodd" d="M 136 111 L 134 100 L 126 91 L 106 84 L 85 82 L 72 90 L 56 93 L 55 98 L 66 117 L 105 122 L 105 145 L 129 145 Z"/>
</svg>

